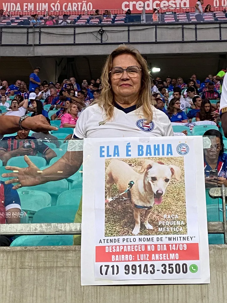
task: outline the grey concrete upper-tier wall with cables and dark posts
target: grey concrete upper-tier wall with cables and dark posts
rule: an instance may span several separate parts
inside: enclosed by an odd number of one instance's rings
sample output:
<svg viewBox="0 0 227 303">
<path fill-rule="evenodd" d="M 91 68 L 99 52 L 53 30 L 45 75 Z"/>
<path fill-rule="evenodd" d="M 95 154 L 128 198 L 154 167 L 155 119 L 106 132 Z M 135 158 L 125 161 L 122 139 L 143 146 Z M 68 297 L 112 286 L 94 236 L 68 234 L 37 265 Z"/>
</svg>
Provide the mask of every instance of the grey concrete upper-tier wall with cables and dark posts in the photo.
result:
<svg viewBox="0 0 227 303">
<path fill-rule="evenodd" d="M 105 31 L 102 43 L 98 34 L 101 28 Z M 143 54 L 226 53 L 227 24 L 220 27 L 219 24 L 183 24 L 183 43 L 179 41 L 182 41 L 181 24 L 158 24 L 156 29 L 153 24 L 29 27 L 28 35 L 24 27 L 3 27 L 1 56 L 107 55 L 122 43 L 130 43 Z"/>
</svg>

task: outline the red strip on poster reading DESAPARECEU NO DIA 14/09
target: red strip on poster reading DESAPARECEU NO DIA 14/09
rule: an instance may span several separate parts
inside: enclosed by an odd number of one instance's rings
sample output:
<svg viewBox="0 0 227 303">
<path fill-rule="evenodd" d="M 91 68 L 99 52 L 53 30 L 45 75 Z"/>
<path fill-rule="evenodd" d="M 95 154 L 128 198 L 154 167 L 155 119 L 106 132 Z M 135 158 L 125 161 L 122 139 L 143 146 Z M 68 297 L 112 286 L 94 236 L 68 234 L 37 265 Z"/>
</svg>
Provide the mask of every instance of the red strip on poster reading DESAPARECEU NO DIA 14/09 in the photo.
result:
<svg viewBox="0 0 227 303">
<path fill-rule="evenodd" d="M 96 262 L 199 260 L 198 243 L 96 246 Z"/>
</svg>

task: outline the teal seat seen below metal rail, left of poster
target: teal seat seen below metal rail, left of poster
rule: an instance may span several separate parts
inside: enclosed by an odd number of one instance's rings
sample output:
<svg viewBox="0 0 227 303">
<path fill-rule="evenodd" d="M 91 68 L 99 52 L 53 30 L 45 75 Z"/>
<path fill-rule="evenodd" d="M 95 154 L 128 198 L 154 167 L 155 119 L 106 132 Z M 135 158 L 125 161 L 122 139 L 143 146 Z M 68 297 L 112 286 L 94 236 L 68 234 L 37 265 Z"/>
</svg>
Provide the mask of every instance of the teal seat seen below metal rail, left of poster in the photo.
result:
<svg viewBox="0 0 227 303">
<path fill-rule="evenodd" d="M 16 238 L 10 246 L 73 245 L 73 235 L 28 235 Z"/>
</svg>

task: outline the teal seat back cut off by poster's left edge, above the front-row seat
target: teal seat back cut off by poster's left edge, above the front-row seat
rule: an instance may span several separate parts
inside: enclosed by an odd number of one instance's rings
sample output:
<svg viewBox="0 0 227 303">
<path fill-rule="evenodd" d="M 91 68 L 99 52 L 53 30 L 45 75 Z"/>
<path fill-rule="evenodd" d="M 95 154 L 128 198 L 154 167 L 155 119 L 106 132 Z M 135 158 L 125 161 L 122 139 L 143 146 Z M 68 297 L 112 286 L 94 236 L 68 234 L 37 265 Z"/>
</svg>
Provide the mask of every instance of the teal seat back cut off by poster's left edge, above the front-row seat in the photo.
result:
<svg viewBox="0 0 227 303">
<path fill-rule="evenodd" d="M 75 188 L 62 192 L 57 199 L 57 206 L 59 205 L 75 205 L 77 208 L 80 204 L 82 196 L 82 188 Z"/>
</svg>

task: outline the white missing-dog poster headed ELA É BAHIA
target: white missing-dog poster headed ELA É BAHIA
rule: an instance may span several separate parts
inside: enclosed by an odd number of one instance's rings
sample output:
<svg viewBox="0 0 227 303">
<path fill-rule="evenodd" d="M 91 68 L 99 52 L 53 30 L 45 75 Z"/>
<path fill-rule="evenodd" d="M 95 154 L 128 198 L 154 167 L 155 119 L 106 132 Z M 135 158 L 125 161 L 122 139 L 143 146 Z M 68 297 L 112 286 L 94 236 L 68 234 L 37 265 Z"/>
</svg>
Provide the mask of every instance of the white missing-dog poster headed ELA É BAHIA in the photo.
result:
<svg viewBox="0 0 227 303">
<path fill-rule="evenodd" d="M 210 282 L 203 139 L 84 140 L 82 285 Z"/>
</svg>

